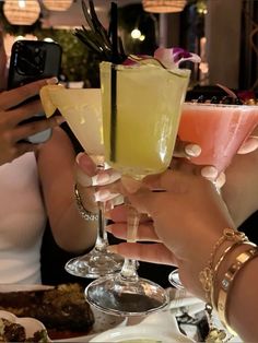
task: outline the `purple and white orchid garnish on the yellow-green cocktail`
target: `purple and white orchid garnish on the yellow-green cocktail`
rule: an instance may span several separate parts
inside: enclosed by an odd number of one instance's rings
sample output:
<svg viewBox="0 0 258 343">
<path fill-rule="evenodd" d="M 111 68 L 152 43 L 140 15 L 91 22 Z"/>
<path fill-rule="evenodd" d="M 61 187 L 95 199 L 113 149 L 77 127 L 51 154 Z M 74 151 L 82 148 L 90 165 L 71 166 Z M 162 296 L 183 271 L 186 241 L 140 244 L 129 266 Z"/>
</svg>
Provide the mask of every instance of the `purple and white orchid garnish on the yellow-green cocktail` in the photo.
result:
<svg viewBox="0 0 258 343">
<path fill-rule="evenodd" d="M 183 48 L 157 48 L 154 58 L 162 62 L 167 69 L 178 68 L 184 61 L 200 63 L 201 59 L 197 54 L 188 52 Z"/>
</svg>

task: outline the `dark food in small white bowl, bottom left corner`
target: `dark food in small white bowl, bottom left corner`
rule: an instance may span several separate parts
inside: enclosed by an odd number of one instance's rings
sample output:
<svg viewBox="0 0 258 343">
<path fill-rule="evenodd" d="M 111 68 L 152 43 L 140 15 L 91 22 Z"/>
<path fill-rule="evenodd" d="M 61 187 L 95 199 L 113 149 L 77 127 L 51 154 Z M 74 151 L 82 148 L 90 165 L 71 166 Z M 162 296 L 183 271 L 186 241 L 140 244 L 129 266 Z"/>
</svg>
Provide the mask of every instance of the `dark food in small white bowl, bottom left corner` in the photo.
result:
<svg viewBox="0 0 258 343">
<path fill-rule="evenodd" d="M 45 329 L 34 332 L 33 336 L 26 335 L 26 329 L 5 318 L 0 318 L 0 342 L 49 342 L 47 331 Z"/>
</svg>

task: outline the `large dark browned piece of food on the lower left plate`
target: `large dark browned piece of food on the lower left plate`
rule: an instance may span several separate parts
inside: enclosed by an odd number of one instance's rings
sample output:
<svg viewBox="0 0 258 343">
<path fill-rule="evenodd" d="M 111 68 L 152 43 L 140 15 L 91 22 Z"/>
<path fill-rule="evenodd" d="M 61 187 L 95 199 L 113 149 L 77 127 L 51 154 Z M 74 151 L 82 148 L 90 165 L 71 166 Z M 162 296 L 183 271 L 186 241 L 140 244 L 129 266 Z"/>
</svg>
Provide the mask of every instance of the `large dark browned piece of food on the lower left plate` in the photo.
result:
<svg viewBox="0 0 258 343">
<path fill-rule="evenodd" d="M 44 323 L 50 339 L 85 334 L 94 323 L 94 315 L 80 284 L 0 293 L 0 309 L 17 317 L 36 318 Z"/>
</svg>

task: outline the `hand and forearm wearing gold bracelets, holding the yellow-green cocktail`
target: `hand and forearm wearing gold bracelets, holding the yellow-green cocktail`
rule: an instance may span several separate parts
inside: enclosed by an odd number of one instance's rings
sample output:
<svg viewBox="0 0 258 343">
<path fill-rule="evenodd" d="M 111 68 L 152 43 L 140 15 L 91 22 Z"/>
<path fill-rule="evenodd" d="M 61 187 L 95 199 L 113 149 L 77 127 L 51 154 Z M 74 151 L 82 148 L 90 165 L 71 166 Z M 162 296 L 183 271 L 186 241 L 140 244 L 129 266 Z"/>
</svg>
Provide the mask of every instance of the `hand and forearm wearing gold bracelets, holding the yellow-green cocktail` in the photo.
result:
<svg viewBox="0 0 258 343">
<path fill-rule="evenodd" d="M 113 251 L 128 258 L 141 258 L 156 263 L 178 265 L 180 280 L 185 287 L 198 297 L 206 299 L 199 275 L 207 265 L 215 244 L 225 227 L 234 227 L 227 209 L 213 185 L 202 177 L 184 172 L 167 170 L 157 176 L 148 177 L 145 184 L 165 192 L 152 192 L 141 189 L 128 193 L 130 202 L 142 213 L 148 213 L 153 221 L 141 223 L 138 237 L 157 241 L 152 249 L 144 249 L 140 243 L 122 243 Z M 124 187 L 126 184 L 124 182 Z M 133 187 L 130 185 L 130 189 Z M 129 190 L 127 185 L 127 190 Z M 125 238 L 126 213 L 122 208 L 110 211 L 109 217 L 115 222 L 110 232 Z M 162 247 L 163 243 L 163 247 Z M 228 244 L 228 243 L 227 243 Z M 215 255 L 216 261 L 223 253 L 221 245 Z M 222 262 L 214 283 L 220 289 L 224 272 L 235 262 L 246 246 L 239 246 Z M 153 267 L 154 268 L 154 267 Z M 228 294 L 228 322 L 246 342 L 257 342 L 257 285 L 258 258 L 255 258 L 236 275 Z"/>
</svg>

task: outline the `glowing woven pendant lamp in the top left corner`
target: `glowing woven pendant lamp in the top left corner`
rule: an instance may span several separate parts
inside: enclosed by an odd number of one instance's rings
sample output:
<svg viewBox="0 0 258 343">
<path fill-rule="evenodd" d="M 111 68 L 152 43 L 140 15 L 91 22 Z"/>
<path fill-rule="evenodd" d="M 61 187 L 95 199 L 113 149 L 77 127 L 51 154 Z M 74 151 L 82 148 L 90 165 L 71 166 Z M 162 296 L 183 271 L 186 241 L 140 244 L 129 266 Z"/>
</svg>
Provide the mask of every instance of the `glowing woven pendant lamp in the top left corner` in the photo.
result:
<svg viewBox="0 0 258 343">
<path fill-rule="evenodd" d="M 3 13 L 12 25 L 32 25 L 39 16 L 40 7 L 37 0 L 5 0 Z"/>
</svg>

